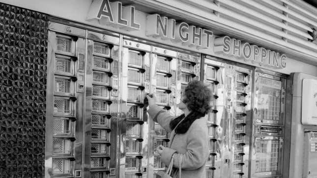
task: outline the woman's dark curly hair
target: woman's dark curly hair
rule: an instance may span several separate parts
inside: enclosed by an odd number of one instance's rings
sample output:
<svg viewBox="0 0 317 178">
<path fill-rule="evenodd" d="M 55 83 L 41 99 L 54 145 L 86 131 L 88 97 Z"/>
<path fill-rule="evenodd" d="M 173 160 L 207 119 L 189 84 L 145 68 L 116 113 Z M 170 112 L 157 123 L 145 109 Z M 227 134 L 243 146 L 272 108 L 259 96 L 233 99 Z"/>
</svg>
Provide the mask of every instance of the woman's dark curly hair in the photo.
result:
<svg viewBox="0 0 317 178">
<path fill-rule="evenodd" d="M 201 117 L 208 114 L 211 106 L 211 91 L 210 89 L 199 80 L 193 80 L 188 83 L 184 92 L 184 103 L 190 111 L 196 112 Z"/>
</svg>

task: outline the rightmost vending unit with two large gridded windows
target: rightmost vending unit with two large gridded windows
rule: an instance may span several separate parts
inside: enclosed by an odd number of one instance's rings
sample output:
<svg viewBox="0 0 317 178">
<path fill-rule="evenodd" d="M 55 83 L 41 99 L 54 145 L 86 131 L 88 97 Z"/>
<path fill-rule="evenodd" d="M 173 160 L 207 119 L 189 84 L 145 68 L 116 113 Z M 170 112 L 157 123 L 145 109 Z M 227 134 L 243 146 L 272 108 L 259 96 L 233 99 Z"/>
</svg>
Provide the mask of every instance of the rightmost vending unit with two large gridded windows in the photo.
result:
<svg viewBox="0 0 317 178">
<path fill-rule="evenodd" d="M 281 178 L 286 76 L 257 69 L 254 88 L 251 177 Z"/>
</svg>

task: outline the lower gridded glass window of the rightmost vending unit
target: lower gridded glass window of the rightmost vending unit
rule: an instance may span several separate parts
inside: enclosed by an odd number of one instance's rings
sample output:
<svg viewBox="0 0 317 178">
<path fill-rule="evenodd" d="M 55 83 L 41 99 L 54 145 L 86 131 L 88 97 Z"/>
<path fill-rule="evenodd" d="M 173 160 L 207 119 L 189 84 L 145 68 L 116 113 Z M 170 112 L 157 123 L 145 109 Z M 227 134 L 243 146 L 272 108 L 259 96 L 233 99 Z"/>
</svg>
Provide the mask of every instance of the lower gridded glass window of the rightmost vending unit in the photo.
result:
<svg viewBox="0 0 317 178">
<path fill-rule="evenodd" d="M 256 141 L 256 172 L 278 171 L 279 140 Z"/>
</svg>

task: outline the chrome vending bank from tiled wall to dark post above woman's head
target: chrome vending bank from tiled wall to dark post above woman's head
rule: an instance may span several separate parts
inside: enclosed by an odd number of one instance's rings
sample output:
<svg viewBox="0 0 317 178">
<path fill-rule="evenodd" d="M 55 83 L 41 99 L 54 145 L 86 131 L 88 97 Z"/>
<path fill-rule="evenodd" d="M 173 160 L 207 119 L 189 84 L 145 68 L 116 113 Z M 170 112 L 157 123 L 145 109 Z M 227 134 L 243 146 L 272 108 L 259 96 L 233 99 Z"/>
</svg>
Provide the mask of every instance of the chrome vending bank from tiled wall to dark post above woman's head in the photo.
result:
<svg viewBox="0 0 317 178">
<path fill-rule="evenodd" d="M 200 79 L 199 53 L 100 31 L 49 23 L 45 178 L 156 177 L 166 165 L 155 148 L 169 135 L 145 96 L 178 116 Z"/>
</svg>

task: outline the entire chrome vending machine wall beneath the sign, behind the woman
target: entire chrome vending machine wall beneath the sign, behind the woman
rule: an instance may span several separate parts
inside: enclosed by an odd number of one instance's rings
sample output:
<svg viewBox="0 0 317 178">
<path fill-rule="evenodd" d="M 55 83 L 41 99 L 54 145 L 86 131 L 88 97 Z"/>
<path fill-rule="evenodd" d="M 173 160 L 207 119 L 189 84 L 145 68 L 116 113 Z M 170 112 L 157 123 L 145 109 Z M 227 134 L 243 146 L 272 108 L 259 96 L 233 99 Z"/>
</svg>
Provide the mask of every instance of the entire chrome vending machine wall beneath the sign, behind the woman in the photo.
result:
<svg viewBox="0 0 317 178">
<path fill-rule="evenodd" d="M 281 176 L 285 76 L 92 30 L 50 23 L 46 178 L 155 178 L 169 135 L 145 96 L 178 116 L 193 79 L 212 92 L 206 177 Z"/>
</svg>

